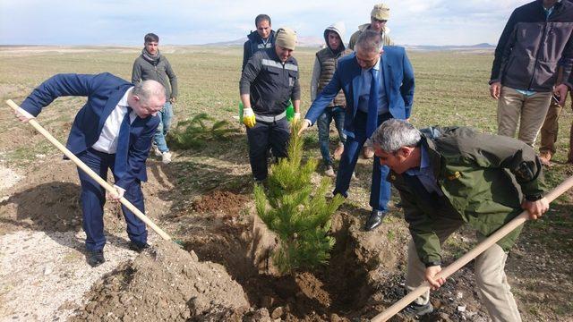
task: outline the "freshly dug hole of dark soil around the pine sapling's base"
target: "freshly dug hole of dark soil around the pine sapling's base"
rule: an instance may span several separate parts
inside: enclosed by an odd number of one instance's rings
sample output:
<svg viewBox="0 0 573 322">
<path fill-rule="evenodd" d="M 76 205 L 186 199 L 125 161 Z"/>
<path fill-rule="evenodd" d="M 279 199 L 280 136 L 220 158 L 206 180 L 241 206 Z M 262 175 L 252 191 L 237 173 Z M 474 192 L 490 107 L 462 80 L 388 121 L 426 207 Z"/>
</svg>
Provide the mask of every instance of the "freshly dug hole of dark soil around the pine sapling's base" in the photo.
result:
<svg viewBox="0 0 573 322">
<path fill-rule="evenodd" d="M 191 236 L 185 248 L 196 252 L 201 260 L 226 267 L 243 285 L 251 309 L 257 314 L 268 311 L 270 318 L 286 321 L 360 317 L 372 290 L 366 267 L 357 260 L 357 243 L 349 235 L 348 225 L 357 222 L 346 214 L 334 217 L 337 245 L 329 265 L 279 276 L 269 258 L 274 237 L 252 216 L 223 220 L 209 232 Z"/>
</svg>

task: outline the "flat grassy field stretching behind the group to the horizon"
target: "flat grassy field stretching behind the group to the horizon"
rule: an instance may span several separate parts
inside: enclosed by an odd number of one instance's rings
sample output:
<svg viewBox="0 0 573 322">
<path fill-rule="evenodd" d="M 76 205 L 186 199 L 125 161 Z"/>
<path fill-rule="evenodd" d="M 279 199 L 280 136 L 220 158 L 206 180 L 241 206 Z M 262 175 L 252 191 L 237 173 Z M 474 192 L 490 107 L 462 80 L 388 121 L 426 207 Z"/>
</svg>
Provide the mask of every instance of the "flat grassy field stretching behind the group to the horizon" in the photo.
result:
<svg viewBox="0 0 573 322">
<path fill-rule="evenodd" d="M 30 47 L 29 50 L 4 47 L 0 49 L 3 64 L 0 76 L 0 95 L 20 102 L 42 80 L 57 72 L 97 73 L 112 72 L 131 79 L 133 60 L 139 48 L 86 47 L 49 48 Z M 175 106 L 177 120 L 207 112 L 218 119 L 232 121 L 236 115 L 238 81 L 242 48 L 239 47 L 165 47 L 162 48 L 173 65 L 179 81 L 179 97 Z M 310 106 L 309 84 L 314 60 L 314 48 L 295 52 L 303 89 L 303 112 Z M 417 126 L 467 125 L 495 132 L 496 102 L 489 97 L 492 53 L 414 52 L 409 54 L 415 69 L 415 103 L 412 122 Z M 42 122 L 71 120 L 82 98 L 61 98 L 55 111 L 42 115 Z M 77 102 L 77 103 L 76 103 Z M 555 160 L 565 161 L 568 129 L 572 114 L 568 107 L 561 117 L 560 147 Z M 4 126 L 10 127 L 2 118 Z M 3 126 L 3 127 L 4 127 Z M 4 127 L 5 128 L 5 127 Z M 65 133 L 59 133 L 64 135 Z M 315 136 L 315 135 L 314 135 Z M 64 136 L 62 137 L 64 138 Z M 312 141 L 311 138 L 309 140 Z M 317 152 L 317 151 L 315 151 Z M 13 151 L 21 156 L 23 152 Z M 318 156 L 318 152 L 313 154 Z M 562 177 L 565 168 L 559 165 L 550 176 L 550 185 Z M 555 174 L 555 173 L 554 173 Z M 553 184 L 552 184 L 553 183 Z"/>
</svg>

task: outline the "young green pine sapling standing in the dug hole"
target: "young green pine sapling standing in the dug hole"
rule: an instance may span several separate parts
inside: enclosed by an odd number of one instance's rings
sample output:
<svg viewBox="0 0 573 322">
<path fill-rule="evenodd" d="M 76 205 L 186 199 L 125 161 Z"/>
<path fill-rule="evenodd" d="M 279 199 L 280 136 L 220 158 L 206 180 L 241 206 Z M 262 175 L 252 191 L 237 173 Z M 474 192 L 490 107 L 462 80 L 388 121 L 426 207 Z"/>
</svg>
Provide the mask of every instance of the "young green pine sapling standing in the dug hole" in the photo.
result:
<svg viewBox="0 0 573 322">
<path fill-rule="evenodd" d="M 303 139 L 296 135 L 300 127 L 300 122 L 291 126 L 288 157 L 270 166 L 267 188 L 258 184 L 254 188 L 257 213 L 278 235 L 272 258 L 283 274 L 328 262 L 336 242 L 329 235 L 330 218 L 344 202 L 339 195 L 327 201 L 329 178 L 322 178 L 318 187 L 311 182 L 318 161 L 302 165 Z"/>
</svg>

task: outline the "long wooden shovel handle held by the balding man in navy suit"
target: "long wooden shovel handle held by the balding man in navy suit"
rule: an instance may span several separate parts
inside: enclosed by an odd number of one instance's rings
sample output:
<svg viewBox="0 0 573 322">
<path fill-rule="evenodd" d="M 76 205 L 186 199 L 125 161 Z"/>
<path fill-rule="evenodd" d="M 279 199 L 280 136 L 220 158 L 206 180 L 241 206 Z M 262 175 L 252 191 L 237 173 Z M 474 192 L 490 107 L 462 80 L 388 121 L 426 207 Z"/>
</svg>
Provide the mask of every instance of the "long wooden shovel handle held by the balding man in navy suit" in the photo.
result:
<svg viewBox="0 0 573 322">
<path fill-rule="evenodd" d="M 13 102 L 12 99 L 8 99 L 6 101 L 6 104 L 8 106 L 12 107 L 12 109 L 16 113 L 20 113 L 21 111 L 23 111 L 20 106 L 18 106 L 16 103 Z M 46 139 L 49 140 L 50 143 L 55 145 L 56 148 L 58 148 L 60 151 L 62 151 L 64 153 L 65 157 L 70 158 L 70 160 L 72 160 L 75 165 L 78 165 L 78 167 L 81 168 L 81 170 L 83 170 L 83 172 L 90 175 L 91 179 L 95 180 L 96 182 L 99 183 L 99 185 L 104 187 L 104 189 L 107 192 L 109 192 L 111 194 L 117 193 L 117 191 L 115 190 L 114 187 L 111 186 L 111 184 L 107 183 L 107 181 L 103 180 L 98 174 L 96 174 L 93 170 L 91 170 L 90 167 L 88 165 L 84 164 L 78 157 L 76 157 L 72 153 L 72 151 L 70 151 L 68 148 L 65 148 L 64 145 L 62 143 L 60 143 L 60 141 L 58 141 L 56 138 L 54 138 L 52 136 L 52 134 L 50 134 L 48 131 L 46 131 L 46 129 L 44 129 L 38 123 L 38 121 L 36 121 L 35 118 L 30 119 L 30 121 L 28 121 L 28 123 L 30 123 L 30 125 L 33 126 L 34 129 L 36 129 L 36 131 L 38 131 L 40 134 L 42 134 L 44 137 L 46 137 Z M 161 236 L 161 238 L 163 238 L 166 241 L 171 239 L 171 237 L 167 233 L 165 233 L 161 228 L 159 228 L 158 225 L 155 225 L 150 220 L 150 218 L 148 216 L 145 216 L 145 214 L 143 214 L 140 209 L 133 206 L 133 204 L 131 202 L 129 202 L 127 199 L 122 197 L 121 199 L 119 199 L 119 202 L 121 202 L 125 206 L 125 208 L 130 209 L 133 212 L 133 214 L 135 214 L 135 216 L 140 218 L 141 221 L 143 223 L 145 223 L 145 225 L 149 225 L 150 228 L 155 233 L 158 233 L 158 235 Z"/>
</svg>

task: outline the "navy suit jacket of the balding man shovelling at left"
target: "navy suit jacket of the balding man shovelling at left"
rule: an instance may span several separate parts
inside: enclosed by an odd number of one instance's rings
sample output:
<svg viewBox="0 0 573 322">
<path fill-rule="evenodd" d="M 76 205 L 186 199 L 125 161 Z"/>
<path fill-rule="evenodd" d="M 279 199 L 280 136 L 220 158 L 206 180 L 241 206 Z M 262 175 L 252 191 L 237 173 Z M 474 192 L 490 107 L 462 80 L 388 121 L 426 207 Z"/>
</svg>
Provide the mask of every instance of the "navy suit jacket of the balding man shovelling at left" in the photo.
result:
<svg viewBox="0 0 573 322">
<path fill-rule="evenodd" d="M 106 123 L 107 116 L 124 97 L 125 91 L 133 84 L 108 72 L 97 75 L 57 74 L 34 89 L 21 104 L 28 113 L 37 116 L 43 107 L 48 106 L 57 97 L 82 96 L 88 102 L 81 107 L 73 120 L 72 130 L 66 148 L 79 155 L 94 145 Z M 125 162 L 126 174 L 117 178 L 115 184 L 129 188 L 135 179 L 147 181 L 145 160 L 149 157 L 151 140 L 159 124 L 158 116 L 144 119 L 136 117 L 132 123 L 129 139 L 129 152 Z"/>
</svg>

